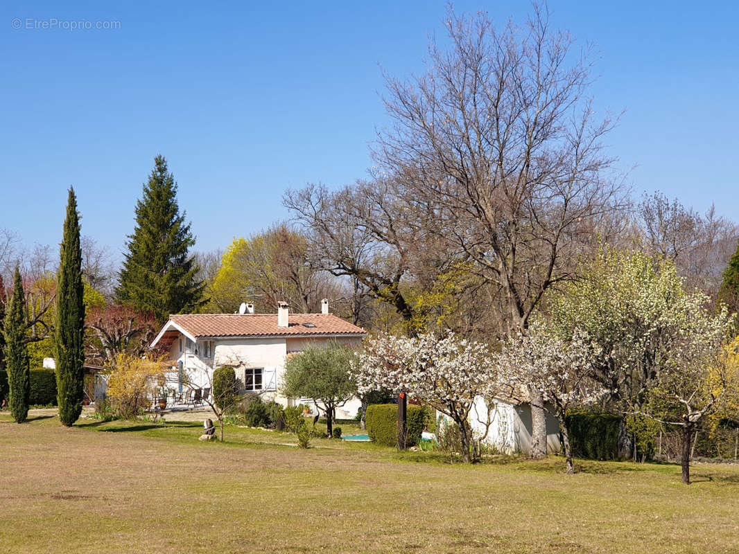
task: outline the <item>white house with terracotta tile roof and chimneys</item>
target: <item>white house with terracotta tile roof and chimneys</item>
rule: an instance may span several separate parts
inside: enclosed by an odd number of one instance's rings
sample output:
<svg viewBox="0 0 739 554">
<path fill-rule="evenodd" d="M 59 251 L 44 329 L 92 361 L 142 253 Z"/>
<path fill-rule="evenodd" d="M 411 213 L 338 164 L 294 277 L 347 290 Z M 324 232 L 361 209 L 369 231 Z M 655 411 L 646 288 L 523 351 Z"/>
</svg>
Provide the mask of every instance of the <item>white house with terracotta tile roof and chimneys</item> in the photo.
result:
<svg viewBox="0 0 739 554">
<path fill-rule="evenodd" d="M 191 380 L 207 388 L 213 370 L 231 366 L 242 392 L 261 392 L 284 406 L 290 402 L 279 388 L 285 360 L 302 352 L 307 344 L 337 341 L 358 344 L 367 335 L 364 329 L 329 313 L 328 301 L 321 302 L 321 313 L 290 313 L 281 304 L 277 313 L 254 313 L 253 304 L 244 304 L 238 314 L 170 315 L 151 347 L 168 349 L 171 372 L 168 386 L 183 390 Z M 357 406 L 354 406 L 357 404 Z M 358 403 L 348 403 L 337 417 L 354 417 Z"/>
</svg>

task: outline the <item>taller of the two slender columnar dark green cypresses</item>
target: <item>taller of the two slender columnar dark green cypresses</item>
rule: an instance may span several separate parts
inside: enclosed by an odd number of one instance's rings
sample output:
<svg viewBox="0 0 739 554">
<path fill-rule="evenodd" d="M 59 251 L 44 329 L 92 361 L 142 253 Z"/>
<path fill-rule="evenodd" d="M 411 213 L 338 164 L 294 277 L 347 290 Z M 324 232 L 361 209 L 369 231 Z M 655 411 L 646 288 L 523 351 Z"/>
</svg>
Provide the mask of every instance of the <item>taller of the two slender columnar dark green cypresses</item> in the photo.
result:
<svg viewBox="0 0 739 554">
<path fill-rule="evenodd" d="M 59 420 L 72 425 L 82 413 L 84 324 L 80 219 L 74 189 L 69 189 L 67 218 L 59 256 L 54 346 Z"/>
</svg>

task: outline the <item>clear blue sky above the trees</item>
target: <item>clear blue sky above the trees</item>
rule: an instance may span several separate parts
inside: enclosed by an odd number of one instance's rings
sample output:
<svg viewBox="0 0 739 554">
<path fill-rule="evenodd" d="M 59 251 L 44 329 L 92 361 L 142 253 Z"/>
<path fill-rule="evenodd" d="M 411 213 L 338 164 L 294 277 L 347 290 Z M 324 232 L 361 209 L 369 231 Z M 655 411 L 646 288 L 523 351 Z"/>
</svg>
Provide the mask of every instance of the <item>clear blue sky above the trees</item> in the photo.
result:
<svg viewBox="0 0 739 554">
<path fill-rule="evenodd" d="M 440 0 L 61 4 L 0 6 L 0 228 L 28 246 L 57 244 L 74 185 L 83 233 L 119 254 L 158 153 L 197 250 L 284 219 L 287 188 L 364 177 L 387 124 L 381 68 L 422 71 L 446 10 Z M 596 44 L 592 94 L 599 110 L 625 109 L 607 142 L 635 191 L 701 211 L 715 202 L 734 219 L 738 6 L 549 3 L 555 27 Z M 454 10 L 503 24 L 523 22 L 530 4 Z M 118 28 L 72 29 L 79 21 Z"/>
</svg>

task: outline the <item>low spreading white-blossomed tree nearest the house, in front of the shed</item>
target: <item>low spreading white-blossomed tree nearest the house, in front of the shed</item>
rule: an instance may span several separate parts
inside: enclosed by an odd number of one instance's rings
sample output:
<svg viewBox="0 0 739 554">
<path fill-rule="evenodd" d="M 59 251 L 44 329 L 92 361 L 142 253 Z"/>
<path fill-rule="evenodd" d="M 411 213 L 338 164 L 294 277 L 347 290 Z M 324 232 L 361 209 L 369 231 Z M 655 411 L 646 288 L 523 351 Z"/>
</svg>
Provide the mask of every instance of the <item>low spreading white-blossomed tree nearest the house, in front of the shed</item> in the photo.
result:
<svg viewBox="0 0 739 554">
<path fill-rule="evenodd" d="M 364 341 L 352 372 L 360 394 L 377 389 L 404 392 L 446 414 L 460 429 L 463 459 L 479 458 L 499 386 L 497 364 L 488 346 L 451 333 L 443 338 L 431 333 L 415 338 L 383 333 Z M 486 414 L 474 410 L 478 397 L 489 406 Z M 471 425 L 473 411 L 482 434 Z"/>
</svg>

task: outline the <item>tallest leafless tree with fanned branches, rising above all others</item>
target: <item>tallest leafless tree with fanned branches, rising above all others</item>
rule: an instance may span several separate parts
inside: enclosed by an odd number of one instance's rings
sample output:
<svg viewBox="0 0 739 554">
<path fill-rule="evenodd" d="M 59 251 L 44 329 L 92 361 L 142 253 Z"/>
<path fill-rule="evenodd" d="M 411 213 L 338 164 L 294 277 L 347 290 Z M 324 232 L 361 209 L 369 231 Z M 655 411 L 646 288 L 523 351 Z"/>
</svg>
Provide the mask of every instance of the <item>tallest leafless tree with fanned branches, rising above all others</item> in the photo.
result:
<svg viewBox="0 0 739 554">
<path fill-rule="evenodd" d="M 619 203 L 600 142 L 613 121 L 595 120 L 587 52 L 551 31 L 545 10 L 524 30 L 451 11 L 446 26 L 452 48 L 432 43 L 425 75 L 388 78 L 394 126 L 374 157 L 500 285 L 509 330 L 525 329 Z"/>
</svg>

